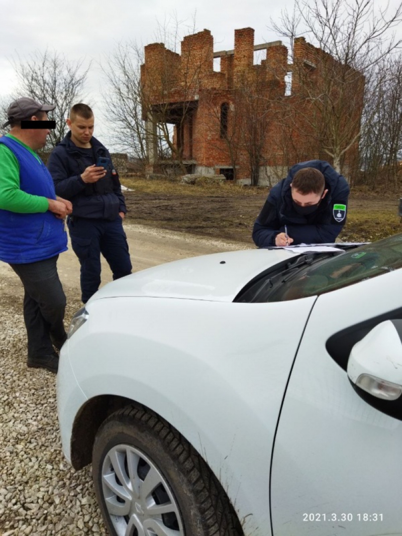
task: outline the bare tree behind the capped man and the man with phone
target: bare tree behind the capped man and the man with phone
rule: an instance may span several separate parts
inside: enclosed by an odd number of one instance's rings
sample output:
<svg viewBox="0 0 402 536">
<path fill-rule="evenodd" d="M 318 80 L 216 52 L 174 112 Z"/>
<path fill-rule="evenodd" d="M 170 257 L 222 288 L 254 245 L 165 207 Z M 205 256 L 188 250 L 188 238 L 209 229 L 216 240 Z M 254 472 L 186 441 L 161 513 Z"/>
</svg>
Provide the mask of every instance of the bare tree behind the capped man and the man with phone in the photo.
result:
<svg viewBox="0 0 402 536">
<path fill-rule="evenodd" d="M 88 71 L 83 61 L 71 62 L 64 55 L 36 50 L 27 60 L 18 56 L 13 61 L 19 85 L 18 96 L 31 96 L 39 102 L 56 105 L 49 116 L 56 121 L 56 128 L 48 136 L 47 148 L 54 147 L 68 132 L 65 123 L 71 106 L 84 98 L 83 90 Z"/>
</svg>

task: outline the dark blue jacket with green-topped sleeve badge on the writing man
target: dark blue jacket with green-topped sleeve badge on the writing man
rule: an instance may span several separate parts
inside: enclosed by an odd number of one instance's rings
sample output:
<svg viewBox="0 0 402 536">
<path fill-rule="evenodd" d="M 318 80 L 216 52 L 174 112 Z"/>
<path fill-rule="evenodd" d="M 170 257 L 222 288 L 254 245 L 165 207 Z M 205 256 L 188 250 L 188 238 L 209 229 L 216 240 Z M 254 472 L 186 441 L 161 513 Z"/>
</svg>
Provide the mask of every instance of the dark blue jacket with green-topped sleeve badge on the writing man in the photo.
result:
<svg viewBox="0 0 402 536">
<path fill-rule="evenodd" d="M 325 178 L 325 189 L 328 189 L 317 210 L 307 216 L 295 211 L 291 193 L 293 177 L 304 167 L 319 169 Z M 285 232 L 286 225 L 288 235 L 294 240 L 292 245 L 333 243 L 345 225 L 348 195 L 349 185 L 345 177 L 337 173 L 328 162 L 300 162 L 271 189 L 255 221 L 252 239 L 259 248 L 272 247 L 277 234 Z M 339 205 L 345 205 L 345 210 Z"/>
</svg>

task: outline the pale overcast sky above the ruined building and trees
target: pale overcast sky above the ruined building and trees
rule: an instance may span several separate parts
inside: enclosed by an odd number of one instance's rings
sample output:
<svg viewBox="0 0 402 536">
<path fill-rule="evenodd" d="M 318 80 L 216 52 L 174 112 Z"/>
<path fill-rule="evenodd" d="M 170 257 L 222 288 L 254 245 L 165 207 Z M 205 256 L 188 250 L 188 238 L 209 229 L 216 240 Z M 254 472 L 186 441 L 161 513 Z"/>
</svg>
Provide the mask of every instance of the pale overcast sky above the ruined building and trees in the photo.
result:
<svg viewBox="0 0 402 536">
<path fill-rule="evenodd" d="M 386 0 L 375 0 L 386 5 Z M 399 0 L 390 0 L 395 7 Z M 234 30 L 255 29 L 255 44 L 281 39 L 269 30 L 279 22 L 281 9 L 293 0 L 0 0 L 0 96 L 16 85 L 12 58 L 28 58 L 35 50 L 56 50 L 72 61 L 93 61 L 87 92 L 94 103 L 95 136 L 102 137 L 99 62 L 117 42 L 155 42 L 158 21 L 177 19 L 196 31 L 210 29 L 214 50 L 234 48 Z M 402 34 L 402 28 L 398 32 Z M 109 144 L 110 145 L 110 144 Z"/>
</svg>

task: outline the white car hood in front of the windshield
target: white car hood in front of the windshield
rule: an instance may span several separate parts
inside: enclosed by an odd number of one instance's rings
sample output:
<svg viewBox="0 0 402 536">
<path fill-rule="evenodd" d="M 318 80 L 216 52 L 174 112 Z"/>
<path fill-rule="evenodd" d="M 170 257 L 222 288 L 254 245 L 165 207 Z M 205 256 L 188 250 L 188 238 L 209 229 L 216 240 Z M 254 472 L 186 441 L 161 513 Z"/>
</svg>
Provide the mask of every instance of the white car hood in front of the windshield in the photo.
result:
<svg viewBox="0 0 402 536">
<path fill-rule="evenodd" d="M 230 302 L 259 273 L 295 256 L 285 249 L 252 249 L 175 260 L 113 281 L 90 302 L 122 296 Z"/>
</svg>

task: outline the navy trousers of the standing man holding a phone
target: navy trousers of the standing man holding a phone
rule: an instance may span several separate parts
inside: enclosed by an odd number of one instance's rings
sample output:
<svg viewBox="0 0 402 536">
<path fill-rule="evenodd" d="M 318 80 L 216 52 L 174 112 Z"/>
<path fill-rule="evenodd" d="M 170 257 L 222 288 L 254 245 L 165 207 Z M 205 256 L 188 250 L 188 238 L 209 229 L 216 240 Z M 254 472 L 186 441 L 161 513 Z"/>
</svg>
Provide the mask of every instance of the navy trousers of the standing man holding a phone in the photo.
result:
<svg viewBox="0 0 402 536">
<path fill-rule="evenodd" d="M 123 221 L 91 218 L 69 219 L 71 247 L 81 265 L 81 300 L 86 303 L 101 283 L 101 254 L 107 260 L 113 279 L 131 273 L 131 259 Z"/>
</svg>

